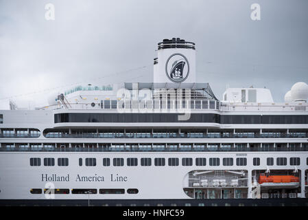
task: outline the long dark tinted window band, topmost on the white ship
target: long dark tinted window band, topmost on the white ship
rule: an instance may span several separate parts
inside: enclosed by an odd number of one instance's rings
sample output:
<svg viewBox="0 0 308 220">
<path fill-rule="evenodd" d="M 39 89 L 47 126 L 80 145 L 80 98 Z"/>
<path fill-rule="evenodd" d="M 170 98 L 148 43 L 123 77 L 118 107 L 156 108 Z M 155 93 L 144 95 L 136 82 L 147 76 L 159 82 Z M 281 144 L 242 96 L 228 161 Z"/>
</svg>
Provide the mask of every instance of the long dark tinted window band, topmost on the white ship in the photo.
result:
<svg viewBox="0 0 308 220">
<path fill-rule="evenodd" d="M 219 115 L 192 113 L 179 120 L 180 113 L 58 113 L 55 123 L 63 122 L 211 122 L 219 124 L 308 124 L 308 115 Z"/>
</svg>

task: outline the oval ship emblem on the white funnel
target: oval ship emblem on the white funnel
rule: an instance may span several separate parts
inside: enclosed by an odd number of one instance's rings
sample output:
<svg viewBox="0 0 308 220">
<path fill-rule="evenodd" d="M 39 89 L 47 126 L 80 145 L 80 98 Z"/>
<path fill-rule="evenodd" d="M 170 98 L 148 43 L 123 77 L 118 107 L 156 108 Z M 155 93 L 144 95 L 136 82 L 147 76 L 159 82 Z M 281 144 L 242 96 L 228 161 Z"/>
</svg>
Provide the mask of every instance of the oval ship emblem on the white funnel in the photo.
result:
<svg viewBox="0 0 308 220">
<path fill-rule="evenodd" d="M 166 63 L 166 74 L 174 83 L 184 82 L 189 75 L 189 63 L 182 54 L 172 54 Z"/>
</svg>

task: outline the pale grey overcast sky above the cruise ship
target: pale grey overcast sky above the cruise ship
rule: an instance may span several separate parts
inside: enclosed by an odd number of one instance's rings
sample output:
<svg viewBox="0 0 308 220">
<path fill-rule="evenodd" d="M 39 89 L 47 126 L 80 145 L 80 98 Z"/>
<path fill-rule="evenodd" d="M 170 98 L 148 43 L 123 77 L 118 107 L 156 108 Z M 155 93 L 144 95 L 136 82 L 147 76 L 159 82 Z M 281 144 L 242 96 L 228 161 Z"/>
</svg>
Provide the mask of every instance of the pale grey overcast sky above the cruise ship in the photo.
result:
<svg viewBox="0 0 308 220">
<path fill-rule="evenodd" d="M 0 0 L 0 109 L 11 96 L 46 104 L 44 89 L 75 83 L 152 81 L 157 43 L 172 37 L 196 43 L 198 82 L 217 98 L 226 85 L 253 85 L 282 102 L 308 83 L 307 0 Z"/>
</svg>

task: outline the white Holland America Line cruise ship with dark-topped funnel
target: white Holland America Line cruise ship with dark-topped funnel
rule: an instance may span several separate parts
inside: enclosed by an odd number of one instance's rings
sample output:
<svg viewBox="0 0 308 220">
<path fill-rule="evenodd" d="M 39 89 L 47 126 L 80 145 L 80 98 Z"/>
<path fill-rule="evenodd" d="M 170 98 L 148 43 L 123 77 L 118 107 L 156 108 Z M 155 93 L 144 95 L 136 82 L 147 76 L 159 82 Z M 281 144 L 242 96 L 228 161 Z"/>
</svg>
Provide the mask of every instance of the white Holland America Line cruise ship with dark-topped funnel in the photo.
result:
<svg viewBox="0 0 308 220">
<path fill-rule="evenodd" d="M 86 83 L 0 110 L 0 204 L 308 206 L 308 85 L 196 80 L 196 44 L 164 39 L 150 83 Z M 279 82 L 277 82 L 279 83 Z"/>
</svg>

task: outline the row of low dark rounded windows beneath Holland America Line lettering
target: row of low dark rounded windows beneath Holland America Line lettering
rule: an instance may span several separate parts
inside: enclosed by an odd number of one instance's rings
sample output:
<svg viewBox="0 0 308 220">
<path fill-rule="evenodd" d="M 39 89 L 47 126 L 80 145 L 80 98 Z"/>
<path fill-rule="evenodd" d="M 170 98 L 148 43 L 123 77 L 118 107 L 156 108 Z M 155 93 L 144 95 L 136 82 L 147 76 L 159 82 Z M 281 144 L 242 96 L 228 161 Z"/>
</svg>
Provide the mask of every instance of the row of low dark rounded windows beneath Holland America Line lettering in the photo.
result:
<svg viewBox="0 0 308 220">
<path fill-rule="evenodd" d="M 30 190 L 31 194 L 69 194 L 68 188 L 32 188 Z M 137 194 L 139 190 L 137 188 L 128 188 L 126 190 L 128 194 Z M 71 189 L 71 194 L 97 194 L 96 188 L 73 188 Z M 125 194 L 125 189 L 123 188 L 100 188 L 99 194 Z"/>
</svg>

